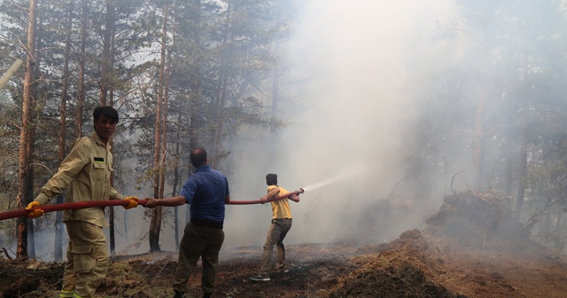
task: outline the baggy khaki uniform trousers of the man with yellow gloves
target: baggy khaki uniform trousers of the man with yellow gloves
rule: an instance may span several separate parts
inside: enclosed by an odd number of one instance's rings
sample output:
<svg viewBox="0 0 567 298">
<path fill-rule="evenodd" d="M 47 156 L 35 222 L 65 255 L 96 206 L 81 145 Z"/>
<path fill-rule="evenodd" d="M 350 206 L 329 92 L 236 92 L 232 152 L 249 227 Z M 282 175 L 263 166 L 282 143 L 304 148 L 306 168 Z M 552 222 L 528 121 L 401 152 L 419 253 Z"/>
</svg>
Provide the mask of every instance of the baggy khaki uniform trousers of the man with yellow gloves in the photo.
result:
<svg viewBox="0 0 567 298">
<path fill-rule="evenodd" d="M 66 228 L 69 245 L 59 297 L 93 297 L 108 271 L 105 233 L 102 227 L 80 221 L 68 221 Z"/>
</svg>

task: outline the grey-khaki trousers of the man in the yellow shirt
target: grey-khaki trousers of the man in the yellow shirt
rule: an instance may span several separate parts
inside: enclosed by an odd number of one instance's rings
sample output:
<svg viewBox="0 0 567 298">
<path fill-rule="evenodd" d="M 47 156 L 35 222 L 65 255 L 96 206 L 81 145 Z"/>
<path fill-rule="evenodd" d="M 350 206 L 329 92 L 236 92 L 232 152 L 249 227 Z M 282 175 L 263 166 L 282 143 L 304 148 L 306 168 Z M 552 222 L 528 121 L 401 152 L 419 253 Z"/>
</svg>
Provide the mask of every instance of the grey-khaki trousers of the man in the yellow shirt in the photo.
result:
<svg viewBox="0 0 567 298">
<path fill-rule="evenodd" d="M 272 263 L 272 252 L 274 246 L 277 248 L 277 266 L 285 267 L 285 246 L 283 239 L 287 232 L 291 230 L 291 218 L 274 218 L 269 226 L 266 243 L 264 243 L 264 253 L 262 255 L 262 266 L 260 268 L 261 277 L 269 277 L 270 265 Z"/>
</svg>

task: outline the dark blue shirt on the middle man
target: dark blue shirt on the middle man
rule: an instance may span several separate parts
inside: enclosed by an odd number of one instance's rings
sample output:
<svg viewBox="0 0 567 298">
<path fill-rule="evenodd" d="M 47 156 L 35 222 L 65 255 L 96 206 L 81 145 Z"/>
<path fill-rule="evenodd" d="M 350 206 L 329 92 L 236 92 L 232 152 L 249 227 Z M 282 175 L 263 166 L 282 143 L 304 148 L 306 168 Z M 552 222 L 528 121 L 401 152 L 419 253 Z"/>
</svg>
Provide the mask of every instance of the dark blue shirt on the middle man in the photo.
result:
<svg viewBox="0 0 567 298">
<path fill-rule="evenodd" d="M 190 204 L 191 223 L 224 223 L 224 199 L 229 195 L 229 181 L 220 171 L 205 165 L 191 175 L 180 192 Z"/>
</svg>

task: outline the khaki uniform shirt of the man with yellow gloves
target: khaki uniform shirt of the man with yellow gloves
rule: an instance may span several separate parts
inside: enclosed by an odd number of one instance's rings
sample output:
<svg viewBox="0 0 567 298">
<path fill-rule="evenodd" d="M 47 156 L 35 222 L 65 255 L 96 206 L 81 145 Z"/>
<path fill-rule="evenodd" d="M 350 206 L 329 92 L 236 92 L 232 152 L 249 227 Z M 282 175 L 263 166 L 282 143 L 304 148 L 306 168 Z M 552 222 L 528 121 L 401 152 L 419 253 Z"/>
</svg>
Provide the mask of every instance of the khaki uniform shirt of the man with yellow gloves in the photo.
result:
<svg viewBox="0 0 567 298">
<path fill-rule="evenodd" d="M 35 198 L 46 205 L 53 197 L 63 193 L 66 203 L 91 200 L 124 199 L 110 184 L 113 172 L 113 154 L 105 146 L 97 132 L 89 137 L 80 137 L 66 159 L 59 165 L 57 173 L 50 178 Z M 82 208 L 66 210 L 63 221 L 82 221 L 100 227 L 108 226 L 105 208 Z"/>
</svg>

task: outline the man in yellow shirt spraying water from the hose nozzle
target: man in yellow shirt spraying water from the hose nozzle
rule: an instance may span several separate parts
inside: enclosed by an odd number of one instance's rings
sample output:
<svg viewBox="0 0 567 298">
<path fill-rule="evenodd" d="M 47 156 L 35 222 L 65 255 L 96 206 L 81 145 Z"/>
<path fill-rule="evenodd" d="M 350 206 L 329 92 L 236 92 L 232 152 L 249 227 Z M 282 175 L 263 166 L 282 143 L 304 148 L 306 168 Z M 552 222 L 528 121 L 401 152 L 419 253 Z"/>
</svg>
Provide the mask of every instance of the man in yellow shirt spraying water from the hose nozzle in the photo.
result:
<svg viewBox="0 0 567 298">
<path fill-rule="evenodd" d="M 263 196 L 260 200 L 262 204 L 266 203 L 270 199 L 282 196 L 288 193 L 283 187 L 277 185 L 277 175 L 268 174 L 266 175 L 266 184 L 268 184 L 268 193 Z M 262 255 L 262 265 L 260 267 L 260 272 L 258 275 L 250 277 L 252 280 L 256 281 L 268 281 L 269 280 L 269 269 L 272 262 L 272 252 L 274 246 L 277 248 L 277 263 L 276 270 L 287 272 L 287 266 L 285 264 L 285 247 L 283 246 L 283 239 L 287 232 L 291 230 L 291 208 L 289 200 L 294 202 L 299 202 L 299 195 L 293 194 L 288 198 L 282 200 L 270 201 L 272 205 L 272 224 L 268 230 L 268 236 L 266 237 L 266 242 L 263 247 Z"/>
</svg>

